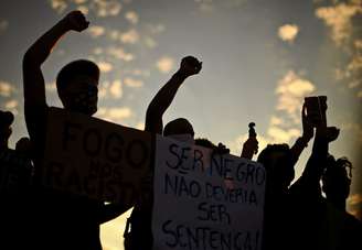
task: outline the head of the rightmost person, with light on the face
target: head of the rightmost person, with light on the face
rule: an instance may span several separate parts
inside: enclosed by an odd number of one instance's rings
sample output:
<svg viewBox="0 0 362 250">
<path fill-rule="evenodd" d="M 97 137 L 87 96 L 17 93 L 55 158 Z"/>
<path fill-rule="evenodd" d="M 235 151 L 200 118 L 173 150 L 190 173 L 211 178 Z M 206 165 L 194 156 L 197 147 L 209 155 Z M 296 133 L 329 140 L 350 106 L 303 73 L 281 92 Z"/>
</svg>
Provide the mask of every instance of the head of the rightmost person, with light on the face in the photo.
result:
<svg viewBox="0 0 362 250">
<path fill-rule="evenodd" d="M 350 194 L 352 163 L 347 157 L 330 159 L 322 176 L 322 191 L 328 199 L 345 200 Z"/>
</svg>

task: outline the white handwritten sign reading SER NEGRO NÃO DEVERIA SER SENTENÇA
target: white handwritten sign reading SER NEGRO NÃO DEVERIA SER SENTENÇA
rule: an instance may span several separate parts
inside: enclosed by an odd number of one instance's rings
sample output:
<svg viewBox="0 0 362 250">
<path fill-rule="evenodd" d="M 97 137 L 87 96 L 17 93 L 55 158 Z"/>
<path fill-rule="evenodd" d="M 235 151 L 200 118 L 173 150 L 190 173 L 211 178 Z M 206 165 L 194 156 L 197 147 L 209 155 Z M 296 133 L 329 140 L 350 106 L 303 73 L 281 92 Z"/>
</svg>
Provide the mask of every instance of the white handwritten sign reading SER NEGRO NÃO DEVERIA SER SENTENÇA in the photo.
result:
<svg viewBox="0 0 362 250">
<path fill-rule="evenodd" d="M 155 250 L 260 249 L 260 164 L 162 137 L 156 149 Z"/>
</svg>

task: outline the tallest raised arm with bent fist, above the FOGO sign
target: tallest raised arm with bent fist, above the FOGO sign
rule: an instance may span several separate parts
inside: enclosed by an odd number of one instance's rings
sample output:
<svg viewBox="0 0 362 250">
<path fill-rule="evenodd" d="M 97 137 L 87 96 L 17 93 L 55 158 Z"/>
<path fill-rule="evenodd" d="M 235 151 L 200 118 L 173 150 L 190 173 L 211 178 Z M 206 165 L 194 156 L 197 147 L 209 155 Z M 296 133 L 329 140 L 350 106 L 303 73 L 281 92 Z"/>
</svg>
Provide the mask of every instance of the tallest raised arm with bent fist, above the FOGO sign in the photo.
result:
<svg viewBox="0 0 362 250">
<path fill-rule="evenodd" d="M 23 87 L 25 107 L 44 106 L 45 83 L 41 70 L 42 64 L 51 54 L 55 43 L 67 31 L 81 32 L 88 26 L 88 22 L 81 11 L 72 11 L 52 29 L 43 34 L 26 51 L 23 57 Z"/>
</svg>

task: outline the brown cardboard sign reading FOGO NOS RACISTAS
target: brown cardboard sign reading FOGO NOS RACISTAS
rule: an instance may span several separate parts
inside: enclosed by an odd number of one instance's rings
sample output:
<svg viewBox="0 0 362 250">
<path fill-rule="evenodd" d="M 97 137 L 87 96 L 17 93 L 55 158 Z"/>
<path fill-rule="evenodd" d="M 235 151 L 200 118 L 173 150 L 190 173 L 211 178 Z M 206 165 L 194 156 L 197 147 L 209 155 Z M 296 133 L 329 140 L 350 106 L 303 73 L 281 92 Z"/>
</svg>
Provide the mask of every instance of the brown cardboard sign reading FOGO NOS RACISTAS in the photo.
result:
<svg viewBox="0 0 362 250">
<path fill-rule="evenodd" d="M 132 205 L 149 174 L 151 134 L 51 108 L 43 185 Z"/>
</svg>

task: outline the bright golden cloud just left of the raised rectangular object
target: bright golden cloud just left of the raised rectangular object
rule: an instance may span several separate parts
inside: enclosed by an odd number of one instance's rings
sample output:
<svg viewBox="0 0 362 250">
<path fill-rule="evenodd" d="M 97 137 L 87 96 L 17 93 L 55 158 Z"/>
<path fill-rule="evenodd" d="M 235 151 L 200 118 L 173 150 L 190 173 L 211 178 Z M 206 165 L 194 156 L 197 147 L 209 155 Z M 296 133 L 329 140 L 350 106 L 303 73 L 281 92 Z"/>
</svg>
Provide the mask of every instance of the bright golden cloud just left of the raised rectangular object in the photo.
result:
<svg viewBox="0 0 362 250">
<path fill-rule="evenodd" d="M 315 85 L 289 70 L 278 83 L 275 93 L 278 95 L 277 110 L 286 111 L 289 116 L 299 117 L 304 97 L 315 91 Z"/>
</svg>

